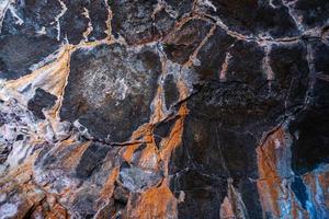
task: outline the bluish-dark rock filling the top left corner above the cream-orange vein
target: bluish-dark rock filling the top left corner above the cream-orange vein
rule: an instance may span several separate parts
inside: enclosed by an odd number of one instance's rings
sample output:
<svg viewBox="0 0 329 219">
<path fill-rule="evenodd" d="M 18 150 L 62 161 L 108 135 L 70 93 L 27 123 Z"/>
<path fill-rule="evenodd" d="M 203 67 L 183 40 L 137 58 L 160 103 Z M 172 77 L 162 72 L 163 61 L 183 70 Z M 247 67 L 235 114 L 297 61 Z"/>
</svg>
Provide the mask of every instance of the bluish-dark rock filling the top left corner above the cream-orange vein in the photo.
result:
<svg viewBox="0 0 329 219">
<path fill-rule="evenodd" d="M 58 1 L 26 1 L 12 5 L 2 22 L 0 35 L 0 78 L 18 79 L 31 72 L 30 67 L 54 53 L 59 42 L 55 16 Z M 42 28 L 45 34 L 39 34 Z"/>
</svg>

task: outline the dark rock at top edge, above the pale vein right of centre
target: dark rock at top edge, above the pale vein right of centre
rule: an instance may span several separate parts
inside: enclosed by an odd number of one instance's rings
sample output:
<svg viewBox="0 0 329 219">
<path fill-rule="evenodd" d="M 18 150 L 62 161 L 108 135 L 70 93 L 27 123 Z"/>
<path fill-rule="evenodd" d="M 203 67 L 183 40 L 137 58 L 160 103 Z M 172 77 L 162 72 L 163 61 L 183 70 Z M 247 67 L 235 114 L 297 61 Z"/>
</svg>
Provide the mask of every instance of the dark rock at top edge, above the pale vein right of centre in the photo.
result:
<svg viewBox="0 0 329 219">
<path fill-rule="evenodd" d="M 284 37 L 298 35 L 299 31 L 288 9 L 280 1 L 211 0 L 215 7 L 207 12 L 218 16 L 230 30 L 246 35 Z M 270 2 L 277 2 L 271 5 Z"/>
</svg>

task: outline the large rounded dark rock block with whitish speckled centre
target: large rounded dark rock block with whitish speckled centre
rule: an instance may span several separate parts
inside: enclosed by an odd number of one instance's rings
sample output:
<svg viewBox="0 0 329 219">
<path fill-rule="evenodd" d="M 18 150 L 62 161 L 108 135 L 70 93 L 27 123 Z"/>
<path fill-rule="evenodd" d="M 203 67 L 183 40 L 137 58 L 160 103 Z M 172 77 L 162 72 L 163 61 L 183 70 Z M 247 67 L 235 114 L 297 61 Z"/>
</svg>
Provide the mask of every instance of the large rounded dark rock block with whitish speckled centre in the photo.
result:
<svg viewBox="0 0 329 219">
<path fill-rule="evenodd" d="M 78 119 L 95 138 L 128 140 L 149 120 L 160 60 L 150 48 L 133 53 L 114 44 L 72 55 L 60 117 Z"/>
</svg>

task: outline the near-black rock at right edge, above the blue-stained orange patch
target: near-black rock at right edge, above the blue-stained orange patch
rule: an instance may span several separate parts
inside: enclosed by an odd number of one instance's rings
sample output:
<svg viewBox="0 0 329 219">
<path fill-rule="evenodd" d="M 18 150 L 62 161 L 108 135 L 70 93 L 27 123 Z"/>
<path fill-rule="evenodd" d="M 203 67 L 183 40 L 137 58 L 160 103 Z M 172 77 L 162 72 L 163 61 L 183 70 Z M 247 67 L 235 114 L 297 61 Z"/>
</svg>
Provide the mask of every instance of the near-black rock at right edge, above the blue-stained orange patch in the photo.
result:
<svg viewBox="0 0 329 219">
<path fill-rule="evenodd" d="M 329 162 L 329 56 L 328 46 L 316 43 L 315 70 L 317 78 L 311 93 L 311 103 L 297 119 L 291 124 L 291 132 L 295 137 L 293 145 L 293 170 L 305 174 Z"/>
</svg>

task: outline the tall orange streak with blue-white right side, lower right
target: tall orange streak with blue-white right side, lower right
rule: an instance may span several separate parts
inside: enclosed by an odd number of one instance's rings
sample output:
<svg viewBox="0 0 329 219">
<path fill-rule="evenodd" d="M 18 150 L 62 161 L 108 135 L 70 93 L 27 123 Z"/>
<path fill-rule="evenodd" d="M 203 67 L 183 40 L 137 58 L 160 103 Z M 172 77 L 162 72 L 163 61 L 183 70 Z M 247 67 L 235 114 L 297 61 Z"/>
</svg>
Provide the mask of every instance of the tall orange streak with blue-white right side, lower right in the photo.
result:
<svg viewBox="0 0 329 219">
<path fill-rule="evenodd" d="M 281 147 L 290 147 L 290 135 L 283 128 L 279 128 L 270 134 L 257 149 L 260 175 L 257 186 L 264 211 L 272 212 L 277 218 L 285 217 L 287 211 L 293 218 L 308 218 L 307 212 L 300 207 L 295 194 L 290 188 L 290 181 L 281 178 L 276 168 L 279 162 L 290 162 L 282 160 L 290 159 L 288 157 L 282 158 L 276 152 Z M 287 203 L 291 206 L 282 209 L 282 206 Z"/>
</svg>

